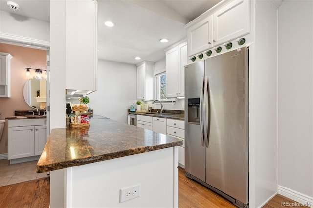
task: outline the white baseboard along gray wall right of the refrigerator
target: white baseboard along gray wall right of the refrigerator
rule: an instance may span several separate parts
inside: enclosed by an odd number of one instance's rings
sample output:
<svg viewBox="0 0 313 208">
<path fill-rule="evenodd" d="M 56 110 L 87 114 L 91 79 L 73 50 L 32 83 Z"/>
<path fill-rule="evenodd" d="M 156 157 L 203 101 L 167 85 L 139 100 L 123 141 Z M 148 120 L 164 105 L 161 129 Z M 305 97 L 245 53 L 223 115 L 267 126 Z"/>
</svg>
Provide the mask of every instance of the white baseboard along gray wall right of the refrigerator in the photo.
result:
<svg viewBox="0 0 313 208">
<path fill-rule="evenodd" d="M 295 205 L 293 207 L 308 206 L 310 208 L 313 208 L 313 197 L 311 196 L 307 196 L 298 191 L 279 185 L 278 185 L 278 194 L 290 198 L 299 203 L 299 205 Z"/>
</svg>

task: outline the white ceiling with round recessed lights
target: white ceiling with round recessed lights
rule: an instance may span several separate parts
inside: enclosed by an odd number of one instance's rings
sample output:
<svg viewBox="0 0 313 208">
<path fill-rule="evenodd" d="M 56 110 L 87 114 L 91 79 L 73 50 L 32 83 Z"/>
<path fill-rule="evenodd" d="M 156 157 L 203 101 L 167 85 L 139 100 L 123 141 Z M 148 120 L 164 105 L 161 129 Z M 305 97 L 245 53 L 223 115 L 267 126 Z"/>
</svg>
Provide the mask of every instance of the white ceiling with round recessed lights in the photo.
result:
<svg viewBox="0 0 313 208">
<path fill-rule="evenodd" d="M 49 0 L 0 0 L 0 10 L 49 21 Z M 186 38 L 184 25 L 221 0 L 98 0 L 98 58 L 137 64 L 165 57 L 164 49 Z M 107 27 L 111 20 L 115 27 Z M 170 41 L 160 43 L 167 38 Z M 139 56 L 141 60 L 135 60 Z"/>
</svg>

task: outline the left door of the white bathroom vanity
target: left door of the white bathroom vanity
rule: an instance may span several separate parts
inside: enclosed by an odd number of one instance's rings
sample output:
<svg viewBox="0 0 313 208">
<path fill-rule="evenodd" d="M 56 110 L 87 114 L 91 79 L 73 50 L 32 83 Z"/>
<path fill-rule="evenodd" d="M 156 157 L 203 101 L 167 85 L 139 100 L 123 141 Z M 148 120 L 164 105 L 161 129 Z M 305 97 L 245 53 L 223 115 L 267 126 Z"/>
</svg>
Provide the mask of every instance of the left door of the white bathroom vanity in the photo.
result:
<svg viewBox="0 0 313 208">
<path fill-rule="evenodd" d="M 8 159 L 34 156 L 34 126 L 8 128 Z"/>
</svg>

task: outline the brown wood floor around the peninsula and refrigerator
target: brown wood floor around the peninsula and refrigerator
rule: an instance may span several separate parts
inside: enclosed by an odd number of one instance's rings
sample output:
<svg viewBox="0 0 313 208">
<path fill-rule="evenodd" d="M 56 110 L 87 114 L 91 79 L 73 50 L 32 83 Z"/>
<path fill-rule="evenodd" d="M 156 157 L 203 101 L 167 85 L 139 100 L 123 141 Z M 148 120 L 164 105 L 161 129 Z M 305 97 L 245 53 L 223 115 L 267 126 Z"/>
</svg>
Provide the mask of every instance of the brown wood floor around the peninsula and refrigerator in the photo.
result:
<svg viewBox="0 0 313 208">
<path fill-rule="evenodd" d="M 294 202 L 275 196 L 263 208 L 283 208 L 282 202 Z M 0 187 L 0 208 L 49 208 L 50 178 Z M 235 208 L 228 200 L 197 182 L 186 178 L 179 167 L 179 208 Z"/>
</svg>

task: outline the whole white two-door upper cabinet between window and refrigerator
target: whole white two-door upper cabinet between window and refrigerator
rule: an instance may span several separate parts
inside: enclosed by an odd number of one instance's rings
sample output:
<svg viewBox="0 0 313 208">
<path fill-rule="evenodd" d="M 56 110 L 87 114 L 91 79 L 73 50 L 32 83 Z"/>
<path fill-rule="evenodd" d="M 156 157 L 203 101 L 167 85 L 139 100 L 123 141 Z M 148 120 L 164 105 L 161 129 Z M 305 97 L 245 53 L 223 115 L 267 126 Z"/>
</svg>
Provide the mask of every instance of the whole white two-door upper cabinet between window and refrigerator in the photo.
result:
<svg viewBox="0 0 313 208">
<path fill-rule="evenodd" d="M 187 42 L 182 42 L 165 52 L 166 97 L 185 96 L 185 73 L 187 65 Z"/>
</svg>

